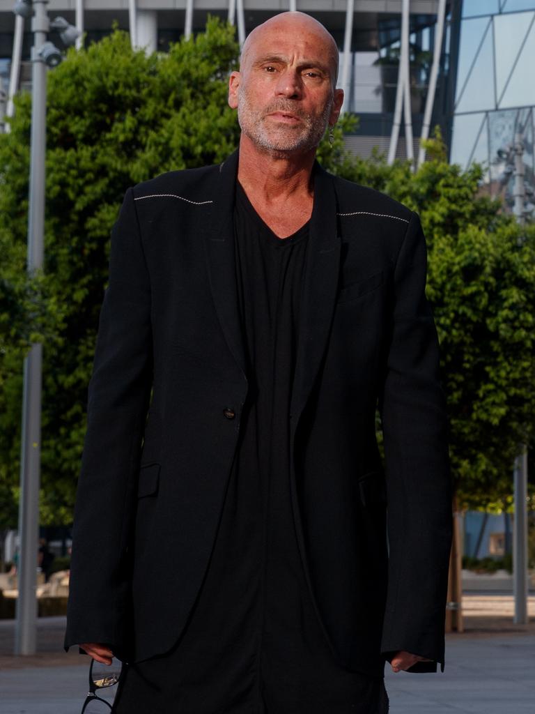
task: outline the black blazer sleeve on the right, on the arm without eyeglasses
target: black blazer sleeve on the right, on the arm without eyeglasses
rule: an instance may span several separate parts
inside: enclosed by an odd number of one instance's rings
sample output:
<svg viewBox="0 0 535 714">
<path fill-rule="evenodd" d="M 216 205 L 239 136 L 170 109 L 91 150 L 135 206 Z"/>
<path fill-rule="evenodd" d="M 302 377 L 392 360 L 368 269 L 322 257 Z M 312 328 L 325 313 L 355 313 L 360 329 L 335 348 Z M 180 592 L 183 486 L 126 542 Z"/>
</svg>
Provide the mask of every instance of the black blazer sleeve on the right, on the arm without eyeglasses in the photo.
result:
<svg viewBox="0 0 535 714">
<path fill-rule="evenodd" d="M 394 302 L 382 416 L 389 570 L 382 653 L 434 660 L 444 670 L 444 617 L 452 540 L 447 416 L 439 345 L 425 296 L 427 252 L 412 213 L 394 268 Z"/>
</svg>

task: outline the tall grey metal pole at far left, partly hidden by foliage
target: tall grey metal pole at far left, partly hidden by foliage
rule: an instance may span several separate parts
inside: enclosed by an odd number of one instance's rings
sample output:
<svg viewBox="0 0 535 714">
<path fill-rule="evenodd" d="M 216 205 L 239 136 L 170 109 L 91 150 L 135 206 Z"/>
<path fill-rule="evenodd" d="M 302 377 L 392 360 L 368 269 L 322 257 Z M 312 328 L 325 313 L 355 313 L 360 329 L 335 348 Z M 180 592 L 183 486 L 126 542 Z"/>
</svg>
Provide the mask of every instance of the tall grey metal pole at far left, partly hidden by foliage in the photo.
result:
<svg viewBox="0 0 535 714">
<path fill-rule="evenodd" d="M 28 221 L 28 272 L 43 266 L 44 188 L 46 142 L 46 64 L 38 50 L 46 41 L 49 0 L 34 0 L 31 29 L 31 149 Z M 19 504 L 19 597 L 16 602 L 15 654 L 36 652 L 37 543 L 39 538 L 39 478 L 41 459 L 41 364 L 43 347 L 33 343 L 24 360 L 24 396 L 21 434 L 21 497 Z"/>
</svg>

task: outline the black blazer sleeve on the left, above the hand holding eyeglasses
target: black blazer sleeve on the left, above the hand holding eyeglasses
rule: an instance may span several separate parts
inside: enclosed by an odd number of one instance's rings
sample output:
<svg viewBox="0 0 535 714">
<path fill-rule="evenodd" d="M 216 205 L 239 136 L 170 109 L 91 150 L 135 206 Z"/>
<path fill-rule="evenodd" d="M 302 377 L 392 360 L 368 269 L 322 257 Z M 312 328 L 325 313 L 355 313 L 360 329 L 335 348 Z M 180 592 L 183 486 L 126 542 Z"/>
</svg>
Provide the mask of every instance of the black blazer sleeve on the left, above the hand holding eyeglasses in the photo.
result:
<svg viewBox="0 0 535 714">
<path fill-rule="evenodd" d="M 86 642 L 108 643 L 114 651 L 126 645 L 128 540 L 152 378 L 151 287 L 129 188 L 111 234 L 88 384 L 65 650 Z"/>
</svg>

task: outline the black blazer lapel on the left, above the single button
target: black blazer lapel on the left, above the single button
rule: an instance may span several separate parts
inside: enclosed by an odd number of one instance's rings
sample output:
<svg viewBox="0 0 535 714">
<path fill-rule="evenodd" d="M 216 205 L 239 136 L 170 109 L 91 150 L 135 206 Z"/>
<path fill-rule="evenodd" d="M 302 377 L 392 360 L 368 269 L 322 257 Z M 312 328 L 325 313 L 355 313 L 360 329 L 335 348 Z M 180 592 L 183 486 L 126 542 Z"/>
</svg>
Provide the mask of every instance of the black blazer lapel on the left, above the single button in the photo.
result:
<svg viewBox="0 0 535 714">
<path fill-rule="evenodd" d="M 234 248 L 233 206 L 238 171 L 238 150 L 219 166 L 210 225 L 203 231 L 205 256 L 215 310 L 235 361 L 245 375 L 245 350 L 238 307 Z M 246 376 L 246 375 L 245 375 Z"/>
</svg>

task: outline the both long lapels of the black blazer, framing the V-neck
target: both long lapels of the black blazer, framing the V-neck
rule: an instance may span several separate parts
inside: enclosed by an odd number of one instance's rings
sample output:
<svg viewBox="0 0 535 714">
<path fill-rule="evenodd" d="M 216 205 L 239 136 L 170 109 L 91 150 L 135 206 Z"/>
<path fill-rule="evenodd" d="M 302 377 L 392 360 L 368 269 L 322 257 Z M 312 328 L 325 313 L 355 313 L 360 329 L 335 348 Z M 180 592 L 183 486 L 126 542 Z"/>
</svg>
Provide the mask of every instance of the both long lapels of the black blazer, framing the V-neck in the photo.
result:
<svg viewBox="0 0 535 714">
<path fill-rule="evenodd" d="M 238 150 L 219 166 L 210 226 L 204 235 L 215 309 L 230 351 L 247 377 L 235 273 L 233 206 L 237 174 Z M 290 406 L 292 430 L 297 426 L 325 353 L 340 272 L 341 239 L 337 234 L 337 198 L 333 177 L 316 161 L 313 178 L 314 207 L 307 238 Z"/>
</svg>

